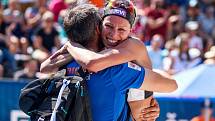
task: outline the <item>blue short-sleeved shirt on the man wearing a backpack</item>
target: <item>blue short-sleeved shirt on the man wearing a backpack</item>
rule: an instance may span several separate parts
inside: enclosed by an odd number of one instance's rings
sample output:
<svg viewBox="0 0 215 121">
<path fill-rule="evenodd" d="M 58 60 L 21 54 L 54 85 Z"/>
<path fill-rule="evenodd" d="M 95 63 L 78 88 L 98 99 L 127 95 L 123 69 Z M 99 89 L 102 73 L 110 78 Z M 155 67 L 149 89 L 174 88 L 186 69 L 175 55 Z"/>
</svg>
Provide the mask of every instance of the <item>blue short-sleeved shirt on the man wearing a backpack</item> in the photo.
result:
<svg viewBox="0 0 215 121">
<path fill-rule="evenodd" d="M 79 65 L 72 61 L 67 75 L 73 75 Z M 129 88 L 139 88 L 145 76 L 144 68 L 132 63 L 116 65 L 90 74 L 87 80 L 93 121 L 125 121 L 130 117 L 127 104 Z"/>
</svg>

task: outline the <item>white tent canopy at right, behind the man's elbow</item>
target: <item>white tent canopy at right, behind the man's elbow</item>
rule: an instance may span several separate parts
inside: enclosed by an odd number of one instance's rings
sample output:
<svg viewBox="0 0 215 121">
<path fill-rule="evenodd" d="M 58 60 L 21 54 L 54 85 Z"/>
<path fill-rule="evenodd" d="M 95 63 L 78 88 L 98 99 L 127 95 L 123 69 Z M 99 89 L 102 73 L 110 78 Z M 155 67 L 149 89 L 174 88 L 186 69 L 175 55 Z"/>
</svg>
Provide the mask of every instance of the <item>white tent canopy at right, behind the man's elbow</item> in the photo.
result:
<svg viewBox="0 0 215 121">
<path fill-rule="evenodd" d="M 173 76 L 178 89 L 173 93 L 155 93 L 156 97 L 215 97 L 215 65 L 201 64 Z"/>
</svg>

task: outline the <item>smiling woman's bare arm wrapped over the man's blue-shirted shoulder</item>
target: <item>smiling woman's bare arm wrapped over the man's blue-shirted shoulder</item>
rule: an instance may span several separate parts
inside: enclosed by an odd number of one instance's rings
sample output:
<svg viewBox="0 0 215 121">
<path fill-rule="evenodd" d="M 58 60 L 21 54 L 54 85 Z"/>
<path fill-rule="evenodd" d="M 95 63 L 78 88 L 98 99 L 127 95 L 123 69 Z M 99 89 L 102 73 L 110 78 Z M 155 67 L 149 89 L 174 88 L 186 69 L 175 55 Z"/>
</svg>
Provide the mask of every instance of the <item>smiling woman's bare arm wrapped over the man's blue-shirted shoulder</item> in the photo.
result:
<svg viewBox="0 0 215 121">
<path fill-rule="evenodd" d="M 67 50 L 81 66 L 93 72 L 133 60 L 151 69 L 145 45 L 134 38 L 99 53 L 87 50 L 77 43 L 67 43 Z"/>
</svg>

